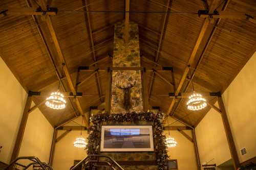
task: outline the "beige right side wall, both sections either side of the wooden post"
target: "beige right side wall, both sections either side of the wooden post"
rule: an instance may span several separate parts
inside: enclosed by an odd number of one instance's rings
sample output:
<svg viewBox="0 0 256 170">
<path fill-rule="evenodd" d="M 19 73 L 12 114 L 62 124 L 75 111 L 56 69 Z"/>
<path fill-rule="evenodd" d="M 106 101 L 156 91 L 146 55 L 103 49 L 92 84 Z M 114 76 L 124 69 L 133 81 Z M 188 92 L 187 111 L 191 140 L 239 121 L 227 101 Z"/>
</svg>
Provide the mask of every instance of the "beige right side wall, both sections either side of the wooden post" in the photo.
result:
<svg viewBox="0 0 256 170">
<path fill-rule="evenodd" d="M 256 53 L 246 63 L 222 97 L 240 162 L 256 156 Z M 231 158 L 222 119 L 210 110 L 196 127 L 200 159 L 215 158 L 217 164 Z M 246 147 L 247 154 L 240 149 Z M 208 152 L 207 152 L 208 151 Z"/>
</svg>

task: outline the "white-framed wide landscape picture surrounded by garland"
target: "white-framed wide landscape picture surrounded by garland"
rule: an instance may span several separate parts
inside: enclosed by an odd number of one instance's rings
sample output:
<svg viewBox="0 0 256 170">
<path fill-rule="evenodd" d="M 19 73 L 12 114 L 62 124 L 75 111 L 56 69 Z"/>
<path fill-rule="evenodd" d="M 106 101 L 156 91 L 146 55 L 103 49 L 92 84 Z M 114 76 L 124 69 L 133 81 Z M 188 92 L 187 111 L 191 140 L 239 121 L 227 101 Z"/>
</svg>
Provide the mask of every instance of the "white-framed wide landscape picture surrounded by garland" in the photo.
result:
<svg viewBox="0 0 256 170">
<path fill-rule="evenodd" d="M 101 126 L 100 151 L 154 151 L 152 126 Z"/>
</svg>

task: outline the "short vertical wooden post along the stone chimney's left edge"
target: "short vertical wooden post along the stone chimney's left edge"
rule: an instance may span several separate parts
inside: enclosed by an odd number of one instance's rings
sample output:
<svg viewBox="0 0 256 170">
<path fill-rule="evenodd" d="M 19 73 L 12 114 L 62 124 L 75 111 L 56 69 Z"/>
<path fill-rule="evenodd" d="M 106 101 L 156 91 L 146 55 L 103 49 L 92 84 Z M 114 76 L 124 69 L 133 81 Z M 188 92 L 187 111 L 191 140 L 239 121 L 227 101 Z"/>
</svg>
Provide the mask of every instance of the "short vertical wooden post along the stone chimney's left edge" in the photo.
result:
<svg viewBox="0 0 256 170">
<path fill-rule="evenodd" d="M 112 71 L 108 70 L 106 79 L 106 96 L 105 96 L 105 111 L 110 114 L 111 111 L 111 90 L 112 90 Z"/>
</svg>

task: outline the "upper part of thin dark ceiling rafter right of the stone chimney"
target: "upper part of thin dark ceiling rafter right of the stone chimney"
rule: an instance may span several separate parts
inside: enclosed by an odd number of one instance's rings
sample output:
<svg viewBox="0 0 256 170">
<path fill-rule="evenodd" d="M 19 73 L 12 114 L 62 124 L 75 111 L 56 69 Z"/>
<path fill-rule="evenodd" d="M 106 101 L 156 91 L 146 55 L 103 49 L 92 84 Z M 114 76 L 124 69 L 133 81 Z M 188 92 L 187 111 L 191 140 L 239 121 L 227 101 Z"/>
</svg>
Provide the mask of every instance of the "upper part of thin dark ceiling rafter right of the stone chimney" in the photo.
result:
<svg viewBox="0 0 256 170">
<path fill-rule="evenodd" d="M 167 1 L 167 4 L 166 4 L 167 7 L 170 6 L 170 0 Z M 164 14 L 164 18 L 163 18 L 163 25 L 162 25 L 162 28 L 161 28 L 161 35 L 160 35 L 160 39 L 159 39 L 159 42 L 158 42 L 158 47 L 157 47 L 157 54 L 156 54 L 156 58 L 155 58 L 155 61 L 157 62 L 158 59 L 159 59 L 159 52 L 161 50 L 161 46 L 162 46 L 162 41 L 163 41 L 163 37 L 164 37 L 164 34 L 165 34 L 165 30 L 166 30 L 166 27 L 167 27 L 167 22 L 168 22 L 168 16 L 169 16 L 169 11 L 170 9 L 167 8 L 165 9 L 165 14 Z"/>
</svg>

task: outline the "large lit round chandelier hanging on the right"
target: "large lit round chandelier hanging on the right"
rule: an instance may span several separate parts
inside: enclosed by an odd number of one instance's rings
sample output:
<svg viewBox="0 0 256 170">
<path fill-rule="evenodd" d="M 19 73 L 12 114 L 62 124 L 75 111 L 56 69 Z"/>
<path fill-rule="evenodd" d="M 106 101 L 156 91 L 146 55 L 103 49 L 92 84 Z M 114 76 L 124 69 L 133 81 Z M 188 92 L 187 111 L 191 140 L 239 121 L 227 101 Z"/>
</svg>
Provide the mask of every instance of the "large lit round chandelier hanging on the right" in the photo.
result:
<svg viewBox="0 0 256 170">
<path fill-rule="evenodd" d="M 188 110 L 193 110 L 193 111 L 202 110 L 206 106 L 207 106 L 206 100 L 202 97 L 201 94 L 193 92 L 193 94 L 191 94 L 188 97 L 188 101 L 187 101 Z"/>
</svg>

